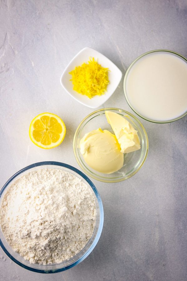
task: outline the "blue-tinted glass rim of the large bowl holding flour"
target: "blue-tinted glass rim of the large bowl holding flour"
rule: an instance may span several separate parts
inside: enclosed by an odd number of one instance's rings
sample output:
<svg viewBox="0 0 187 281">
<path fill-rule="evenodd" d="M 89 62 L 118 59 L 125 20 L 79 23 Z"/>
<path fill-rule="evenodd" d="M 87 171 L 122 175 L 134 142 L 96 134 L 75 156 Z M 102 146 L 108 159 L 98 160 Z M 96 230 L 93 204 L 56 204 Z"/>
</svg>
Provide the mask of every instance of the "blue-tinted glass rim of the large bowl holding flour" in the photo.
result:
<svg viewBox="0 0 187 281">
<path fill-rule="evenodd" d="M 80 262 L 82 262 L 91 252 L 92 250 L 95 248 L 96 244 L 98 243 L 98 240 L 101 236 L 102 233 L 102 229 L 103 229 L 103 222 L 104 222 L 104 211 L 103 211 L 103 203 L 101 200 L 101 197 L 98 193 L 98 190 L 96 189 L 95 185 L 93 184 L 93 182 L 86 176 L 84 175 L 83 172 L 81 172 L 80 170 L 78 170 L 77 168 L 69 165 L 69 164 L 65 164 L 65 163 L 61 163 L 61 162 L 56 162 L 56 161 L 42 161 L 42 162 L 36 162 L 34 164 L 28 165 L 25 168 L 22 168 L 21 170 L 19 170 L 18 172 L 16 172 L 14 175 L 12 175 L 12 177 L 10 177 L 9 180 L 7 180 L 7 182 L 2 186 L 1 190 L 0 190 L 0 198 L 4 192 L 4 190 L 6 190 L 7 186 L 12 182 L 12 180 L 14 180 L 17 176 L 21 175 L 23 172 L 30 170 L 31 168 L 34 167 L 40 167 L 40 166 L 45 166 L 45 165 L 54 165 L 54 166 L 60 166 L 60 167 L 65 167 L 67 169 L 70 169 L 74 172 L 76 172 L 77 174 L 79 174 L 84 180 L 87 181 L 87 183 L 89 184 L 89 186 L 92 188 L 95 197 L 98 200 L 98 205 L 99 205 L 99 211 L 100 211 L 100 220 L 99 220 L 99 226 L 98 226 L 98 231 L 96 234 L 95 239 L 93 240 L 93 243 L 90 245 L 89 249 L 84 253 L 84 255 L 82 257 L 80 257 L 77 261 L 75 261 L 74 263 L 67 265 L 65 267 L 59 268 L 59 269 L 36 269 L 36 268 L 32 268 L 28 265 L 22 264 L 22 262 L 18 261 L 16 258 L 14 258 L 12 256 L 12 254 L 9 253 L 9 251 L 7 250 L 7 248 L 4 246 L 1 238 L 0 238 L 0 246 L 2 248 L 2 250 L 5 252 L 5 254 L 16 264 L 18 264 L 19 266 L 21 266 L 22 268 L 25 268 L 27 270 L 36 272 L 36 273 L 57 273 L 57 272 L 61 272 L 67 269 L 70 269 L 72 267 L 74 267 L 75 265 L 79 264 Z"/>
</svg>

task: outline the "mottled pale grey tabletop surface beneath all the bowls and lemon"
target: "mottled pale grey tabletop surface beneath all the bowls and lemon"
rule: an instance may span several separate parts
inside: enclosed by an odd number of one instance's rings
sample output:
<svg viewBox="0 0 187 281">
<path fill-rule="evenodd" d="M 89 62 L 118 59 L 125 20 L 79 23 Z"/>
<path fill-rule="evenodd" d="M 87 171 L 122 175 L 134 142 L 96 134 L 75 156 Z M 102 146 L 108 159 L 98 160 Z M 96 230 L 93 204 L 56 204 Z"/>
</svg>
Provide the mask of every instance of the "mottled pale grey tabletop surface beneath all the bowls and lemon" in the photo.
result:
<svg viewBox="0 0 187 281">
<path fill-rule="evenodd" d="M 42 160 L 79 168 L 73 136 L 93 110 L 74 101 L 60 75 L 83 47 L 92 47 L 123 72 L 140 54 L 170 49 L 187 57 L 187 1 L 0 1 L 0 185 Z M 123 80 L 123 78 L 122 78 Z M 132 112 L 123 81 L 102 107 Z M 62 145 L 42 150 L 29 139 L 41 112 L 61 116 Z M 141 118 L 139 118 L 141 119 Z M 101 238 L 87 259 L 59 274 L 36 274 L 0 249 L 0 280 L 187 280 L 187 117 L 170 124 L 142 120 L 150 149 L 142 169 L 116 184 L 93 180 L 104 206 Z"/>
</svg>

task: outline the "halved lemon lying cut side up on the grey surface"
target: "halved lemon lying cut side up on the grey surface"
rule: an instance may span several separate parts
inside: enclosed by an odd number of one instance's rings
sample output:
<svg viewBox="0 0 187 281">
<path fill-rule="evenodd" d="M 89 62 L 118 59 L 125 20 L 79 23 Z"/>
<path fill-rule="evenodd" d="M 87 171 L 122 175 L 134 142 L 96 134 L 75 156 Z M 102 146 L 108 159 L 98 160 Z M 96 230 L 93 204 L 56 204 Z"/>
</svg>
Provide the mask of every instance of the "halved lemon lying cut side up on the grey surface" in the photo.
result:
<svg viewBox="0 0 187 281">
<path fill-rule="evenodd" d="M 50 149 L 61 144 L 65 137 L 65 124 L 53 113 L 41 113 L 32 121 L 29 128 L 31 141 L 44 149 Z"/>
</svg>

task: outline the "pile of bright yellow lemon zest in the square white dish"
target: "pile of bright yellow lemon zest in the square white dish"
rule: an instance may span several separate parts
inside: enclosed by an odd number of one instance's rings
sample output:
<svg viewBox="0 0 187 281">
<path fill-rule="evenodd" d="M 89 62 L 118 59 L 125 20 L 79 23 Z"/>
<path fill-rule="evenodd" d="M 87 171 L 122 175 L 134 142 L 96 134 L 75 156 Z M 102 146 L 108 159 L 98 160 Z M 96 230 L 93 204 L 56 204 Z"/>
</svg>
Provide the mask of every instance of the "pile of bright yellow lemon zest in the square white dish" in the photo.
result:
<svg viewBox="0 0 187 281">
<path fill-rule="evenodd" d="M 74 91 L 90 99 L 96 95 L 103 95 L 109 83 L 108 71 L 108 68 L 102 67 L 94 58 L 90 58 L 88 64 L 83 63 L 69 72 L 72 75 L 70 81 L 74 85 Z"/>
</svg>

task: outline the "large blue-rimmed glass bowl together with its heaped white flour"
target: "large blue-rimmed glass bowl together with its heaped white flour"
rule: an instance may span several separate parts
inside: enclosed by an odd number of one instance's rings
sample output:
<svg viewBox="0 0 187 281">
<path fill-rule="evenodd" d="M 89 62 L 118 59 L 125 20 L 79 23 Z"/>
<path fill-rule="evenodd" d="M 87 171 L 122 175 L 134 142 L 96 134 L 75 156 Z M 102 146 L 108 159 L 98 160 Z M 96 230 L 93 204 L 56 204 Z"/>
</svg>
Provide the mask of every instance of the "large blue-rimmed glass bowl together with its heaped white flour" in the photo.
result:
<svg viewBox="0 0 187 281">
<path fill-rule="evenodd" d="M 0 190 L 0 246 L 25 269 L 55 273 L 84 260 L 103 228 L 103 205 L 89 178 L 60 162 L 39 162 Z"/>
</svg>

